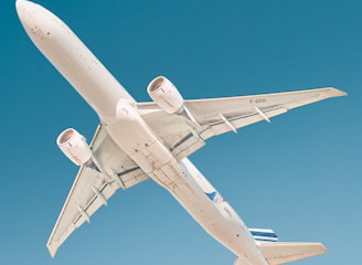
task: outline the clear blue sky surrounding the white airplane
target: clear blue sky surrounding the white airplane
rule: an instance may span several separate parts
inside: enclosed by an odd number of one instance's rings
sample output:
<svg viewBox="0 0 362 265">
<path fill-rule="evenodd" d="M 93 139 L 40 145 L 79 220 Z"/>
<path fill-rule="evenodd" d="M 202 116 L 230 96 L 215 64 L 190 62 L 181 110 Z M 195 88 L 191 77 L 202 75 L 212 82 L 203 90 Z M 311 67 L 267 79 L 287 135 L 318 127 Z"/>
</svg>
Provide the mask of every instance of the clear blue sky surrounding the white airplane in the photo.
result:
<svg viewBox="0 0 362 265">
<path fill-rule="evenodd" d="M 166 75 L 184 98 L 334 86 L 349 96 L 209 140 L 191 160 L 248 226 L 320 241 L 302 262 L 360 264 L 362 1 L 39 0 L 62 18 L 139 102 Z M 1 264 L 232 265 L 152 181 L 114 195 L 52 259 L 45 243 L 77 168 L 57 149 L 67 127 L 88 139 L 93 109 L 0 4 Z"/>
</svg>

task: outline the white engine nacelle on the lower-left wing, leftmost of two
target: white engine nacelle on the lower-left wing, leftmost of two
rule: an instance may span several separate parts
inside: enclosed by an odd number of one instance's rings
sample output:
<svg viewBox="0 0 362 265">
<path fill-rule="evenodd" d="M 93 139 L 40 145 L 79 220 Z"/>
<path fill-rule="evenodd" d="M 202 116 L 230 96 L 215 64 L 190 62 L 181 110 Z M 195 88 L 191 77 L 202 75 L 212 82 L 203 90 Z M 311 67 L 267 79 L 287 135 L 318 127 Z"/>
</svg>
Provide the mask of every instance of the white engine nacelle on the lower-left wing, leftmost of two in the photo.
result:
<svg viewBox="0 0 362 265">
<path fill-rule="evenodd" d="M 77 166 L 83 166 L 92 158 L 92 150 L 82 136 L 75 129 L 64 130 L 56 139 L 57 146 L 64 155 Z"/>
</svg>

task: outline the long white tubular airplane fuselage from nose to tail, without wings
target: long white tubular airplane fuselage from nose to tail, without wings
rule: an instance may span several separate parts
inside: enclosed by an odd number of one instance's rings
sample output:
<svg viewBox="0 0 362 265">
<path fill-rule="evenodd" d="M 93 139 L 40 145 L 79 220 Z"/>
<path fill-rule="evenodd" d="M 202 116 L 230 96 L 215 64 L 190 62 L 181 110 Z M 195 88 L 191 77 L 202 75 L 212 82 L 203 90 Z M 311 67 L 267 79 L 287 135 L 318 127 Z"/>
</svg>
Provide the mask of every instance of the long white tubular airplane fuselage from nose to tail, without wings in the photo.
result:
<svg viewBox="0 0 362 265">
<path fill-rule="evenodd" d="M 31 21 L 24 28 L 34 44 L 95 109 L 118 147 L 246 264 L 267 264 L 236 212 L 188 159 L 177 161 L 138 114 L 135 99 L 72 30 L 38 4 L 23 6 L 19 15 Z"/>
</svg>

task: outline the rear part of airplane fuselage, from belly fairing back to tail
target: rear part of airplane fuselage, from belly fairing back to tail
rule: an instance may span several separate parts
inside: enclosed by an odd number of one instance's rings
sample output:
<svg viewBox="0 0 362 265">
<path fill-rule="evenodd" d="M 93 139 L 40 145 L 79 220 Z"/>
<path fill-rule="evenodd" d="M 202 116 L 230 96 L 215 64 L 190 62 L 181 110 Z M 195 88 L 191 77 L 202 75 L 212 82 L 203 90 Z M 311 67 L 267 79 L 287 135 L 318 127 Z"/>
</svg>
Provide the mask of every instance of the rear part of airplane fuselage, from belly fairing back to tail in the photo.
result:
<svg viewBox="0 0 362 265">
<path fill-rule="evenodd" d="M 199 224 L 237 256 L 265 265 L 236 212 L 188 160 L 177 161 L 127 99 L 117 104 L 116 119 L 106 120 L 115 142 L 158 184 L 167 189 Z M 260 259 L 260 262 L 259 262 Z"/>
</svg>

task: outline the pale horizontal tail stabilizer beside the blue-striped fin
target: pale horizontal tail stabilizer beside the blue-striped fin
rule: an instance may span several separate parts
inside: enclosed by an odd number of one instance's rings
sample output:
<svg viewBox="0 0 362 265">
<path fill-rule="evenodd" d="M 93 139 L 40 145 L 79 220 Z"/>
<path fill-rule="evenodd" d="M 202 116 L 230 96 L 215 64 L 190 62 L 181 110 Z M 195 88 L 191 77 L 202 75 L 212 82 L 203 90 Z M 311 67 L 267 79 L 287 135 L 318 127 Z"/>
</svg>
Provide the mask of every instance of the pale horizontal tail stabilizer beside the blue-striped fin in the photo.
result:
<svg viewBox="0 0 362 265">
<path fill-rule="evenodd" d="M 270 265 L 284 264 L 324 254 L 321 243 L 262 243 L 258 248 Z"/>
</svg>

